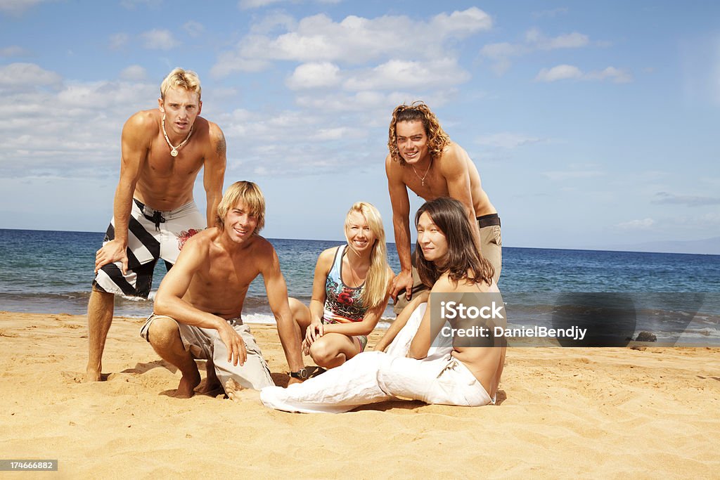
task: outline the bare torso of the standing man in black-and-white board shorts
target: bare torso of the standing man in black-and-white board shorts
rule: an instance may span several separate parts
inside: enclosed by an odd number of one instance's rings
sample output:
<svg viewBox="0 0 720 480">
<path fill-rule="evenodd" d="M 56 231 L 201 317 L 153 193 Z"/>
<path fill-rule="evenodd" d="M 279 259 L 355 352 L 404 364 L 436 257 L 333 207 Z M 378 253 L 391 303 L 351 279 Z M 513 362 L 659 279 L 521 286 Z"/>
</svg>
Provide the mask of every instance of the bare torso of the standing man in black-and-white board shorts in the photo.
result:
<svg viewBox="0 0 720 480">
<path fill-rule="evenodd" d="M 173 157 L 162 118 L 158 109 L 133 115 L 123 130 L 122 153 L 124 161 L 125 155 L 139 156 L 133 196 L 153 209 L 172 210 L 192 201 L 195 178 L 214 148 L 211 129 L 217 125 L 197 117 L 190 139 Z"/>
</svg>

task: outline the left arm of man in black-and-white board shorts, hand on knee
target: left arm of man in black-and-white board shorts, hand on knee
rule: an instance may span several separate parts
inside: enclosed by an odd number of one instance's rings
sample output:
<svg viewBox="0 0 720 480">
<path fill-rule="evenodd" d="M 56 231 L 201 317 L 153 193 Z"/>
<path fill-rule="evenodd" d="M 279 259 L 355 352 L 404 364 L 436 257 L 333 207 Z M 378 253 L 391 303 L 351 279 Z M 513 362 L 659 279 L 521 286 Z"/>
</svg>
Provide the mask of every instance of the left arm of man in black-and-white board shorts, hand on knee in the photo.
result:
<svg viewBox="0 0 720 480">
<path fill-rule="evenodd" d="M 150 133 L 153 131 L 152 117 L 138 112 L 127 119 L 122 127 L 120 181 L 117 182 L 112 207 L 115 235 L 95 255 L 95 272 L 107 265 L 120 261 L 122 273 L 127 272 L 127 225 L 132 210 L 132 195 L 138 184 L 140 172 L 148 157 Z"/>
</svg>

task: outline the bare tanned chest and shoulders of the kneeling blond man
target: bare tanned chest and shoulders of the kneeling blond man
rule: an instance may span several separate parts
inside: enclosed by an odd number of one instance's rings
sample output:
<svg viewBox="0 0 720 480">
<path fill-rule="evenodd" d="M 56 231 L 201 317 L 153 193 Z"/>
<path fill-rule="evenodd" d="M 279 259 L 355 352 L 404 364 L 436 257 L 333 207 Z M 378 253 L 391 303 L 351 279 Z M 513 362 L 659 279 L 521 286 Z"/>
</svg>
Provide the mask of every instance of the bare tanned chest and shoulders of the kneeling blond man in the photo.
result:
<svg viewBox="0 0 720 480">
<path fill-rule="evenodd" d="M 273 260 L 274 250 L 254 236 L 243 248 L 228 249 L 217 227 L 204 230 L 186 244 L 197 250 L 192 280 L 182 297 L 193 307 L 225 319 L 240 317 L 248 287 Z M 191 244 L 192 242 L 192 244 Z M 236 246 L 236 245 L 235 245 Z"/>
</svg>

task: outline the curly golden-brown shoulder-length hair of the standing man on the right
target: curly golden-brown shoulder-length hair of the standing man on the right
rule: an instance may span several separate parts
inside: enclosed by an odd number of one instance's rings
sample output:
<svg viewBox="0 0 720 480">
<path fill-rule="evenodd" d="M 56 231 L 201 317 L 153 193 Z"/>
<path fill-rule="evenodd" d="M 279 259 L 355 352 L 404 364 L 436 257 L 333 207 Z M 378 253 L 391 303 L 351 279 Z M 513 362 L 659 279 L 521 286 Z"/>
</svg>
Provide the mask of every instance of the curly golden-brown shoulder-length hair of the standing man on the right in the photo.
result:
<svg viewBox="0 0 720 480">
<path fill-rule="evenodd" d="M 397 132 L 395 131 L 397 122 L 423 123 L 425 135 L 428 136 L 428 152 L 432 158 L 438 158 L 442 155 L 445 147 L 450 143 L 450 137 L 440 126 L 438 117 L 422 101 L 413 101 L 413 104 L 410 105 L 398 105 L 392 111 L 390 129 L 387 132 L 387 148 L 390 150 L 392 160 L 399 162 L 402 166 L 405 166 L 405 160 L 397 148 Z"/>
</svg>

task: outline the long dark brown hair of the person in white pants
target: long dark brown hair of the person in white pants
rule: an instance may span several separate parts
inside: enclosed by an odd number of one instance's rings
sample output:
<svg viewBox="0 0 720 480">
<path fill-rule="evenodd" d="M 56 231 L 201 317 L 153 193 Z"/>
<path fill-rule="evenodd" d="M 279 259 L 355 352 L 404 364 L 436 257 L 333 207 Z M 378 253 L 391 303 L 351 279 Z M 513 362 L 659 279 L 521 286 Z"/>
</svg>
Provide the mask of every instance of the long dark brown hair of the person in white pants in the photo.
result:
<svg viewBox="0 0 720 480">
<path fill-rule="evenodd" d="M 488 285 L 492 284 L 495 268 L 475 248 L 470 229 L 477 226 L 470 225 L 462 203 L 448 196 L 426 201 L 415 214 L 415 228 L 423 213 L 430 215 L 448 243 L 446 258 L 437 261 L 437 264 L 423 257 L 420 243 L 415 245 L 415 263 L 423 284 L 432 286 L 445 272 L 454 282 L 472 279 L 476 283 L 485 281 Z"/>
</svg>

